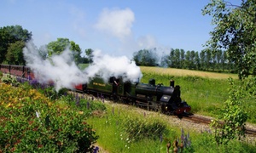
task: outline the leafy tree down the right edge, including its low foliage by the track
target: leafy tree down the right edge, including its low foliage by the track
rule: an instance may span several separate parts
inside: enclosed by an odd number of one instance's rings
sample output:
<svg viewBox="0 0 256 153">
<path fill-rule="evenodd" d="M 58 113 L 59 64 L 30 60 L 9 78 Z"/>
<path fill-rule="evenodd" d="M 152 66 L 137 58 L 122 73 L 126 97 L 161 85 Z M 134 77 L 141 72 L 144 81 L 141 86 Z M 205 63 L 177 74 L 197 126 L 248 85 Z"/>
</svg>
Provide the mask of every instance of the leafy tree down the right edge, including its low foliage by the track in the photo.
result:
<svg viewBox="0 0 256 153">
<path fill-rule="evenodd" d="M 221 0 L 212 0 L 203 9 L 203 14 L 212 15 L 216 27 L 207 42 L 212 50 L 226 50 L 229 62 L 234 62 L 241 84 L 234 86 L 231 81 L 230 97 L 224 105 L 224 113 L 219 119 L 224 123 L 216 126 L 215 139 L 218 144 L 227 144 L 230 139 L 240 138 L 245 133 L 247 113 L 242 109 L 244 97 L 255 99 L 256 88 L 256 3 L 242 0 L 234 5 Z M 253 77 L 247 78 L 250 74 Z"/>
</svg>

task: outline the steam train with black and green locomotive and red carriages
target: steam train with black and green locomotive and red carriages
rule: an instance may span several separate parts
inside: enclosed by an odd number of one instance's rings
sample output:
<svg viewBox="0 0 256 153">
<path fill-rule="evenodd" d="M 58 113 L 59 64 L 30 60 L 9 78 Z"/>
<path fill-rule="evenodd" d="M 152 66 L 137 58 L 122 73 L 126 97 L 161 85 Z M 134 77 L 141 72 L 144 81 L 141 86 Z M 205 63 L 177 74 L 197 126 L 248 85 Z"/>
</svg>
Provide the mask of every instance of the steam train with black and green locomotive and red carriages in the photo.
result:
<svg viewBox="0 0 256 153">
<path fill-rule="evenodd" d="M 33 73 L 27 66 L 0 65 L 0 71 L 19 77 L 30 77 Z M 180 98 L 180 87 L 170 81 L 170 86 L 155 84 L 149 79 L 148 83 L 124 81 L 122 77 L 109 77 L 106 82 L 102 77 L 96 76 L 90 82 L 74 87 L 77 91 L 88 94 L 101 94 L 114 101 L 137 105 L 147 110 L 161 111 L 166 114 L 182 114 L 189 112 L 191 107 Z"/>
</svg>

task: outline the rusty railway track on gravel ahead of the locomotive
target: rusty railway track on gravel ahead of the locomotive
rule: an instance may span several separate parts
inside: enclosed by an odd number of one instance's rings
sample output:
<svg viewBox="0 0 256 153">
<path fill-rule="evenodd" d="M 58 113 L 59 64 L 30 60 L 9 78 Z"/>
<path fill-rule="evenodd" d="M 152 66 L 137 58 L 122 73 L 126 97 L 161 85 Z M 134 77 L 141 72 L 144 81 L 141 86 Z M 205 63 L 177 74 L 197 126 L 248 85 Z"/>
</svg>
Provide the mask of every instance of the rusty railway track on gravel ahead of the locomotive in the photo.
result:
<svg viewBox="0 0 256 153">
<path fill-rule="evenodd" d="M 177 117 L 182 118 L 183 120 L 186 120 L 186 121 L 189 121 L 189 122 L 195 122 L 197 124 L 209 125 L 212 122 L 211 118 L 206 118 L 206 117 L 202 117 L 202 116 L 190 115 L 190 116 L 177 116 Z M 253 137 L 256 137 L 256 129 L 247 127 L 246 134 L 249 134 Z"/>
</svg>

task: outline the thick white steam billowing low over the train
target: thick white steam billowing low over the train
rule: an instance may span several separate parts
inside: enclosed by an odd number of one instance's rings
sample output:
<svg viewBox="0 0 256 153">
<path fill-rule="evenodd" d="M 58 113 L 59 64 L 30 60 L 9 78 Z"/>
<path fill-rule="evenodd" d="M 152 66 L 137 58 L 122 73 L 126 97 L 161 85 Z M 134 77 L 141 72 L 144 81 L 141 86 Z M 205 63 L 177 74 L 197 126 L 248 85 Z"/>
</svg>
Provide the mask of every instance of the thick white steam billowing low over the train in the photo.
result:
<svg viewBox="0 0 256 153">
<path fill-rule="evenodd" d="M 104 80 L 109 77 L 123 77 L 125 81 L 136 82 L 142 78 L 140 68 L 125 56 L 113 57 L 94 52 L 93 63 L 84 71 L 73 60 L 73 52 L 66 49 L 60 55 L 53 55 L 50 59 L 43 59 L 32 42 L 26 43 L 23 49 L 26 65 L 32 69 L 38 82 L 54 82 L 55 90 L 61 88 L 73 89 L 75 85 L 90 82 L 92 77 L 100 75 Z"/>
</svg>

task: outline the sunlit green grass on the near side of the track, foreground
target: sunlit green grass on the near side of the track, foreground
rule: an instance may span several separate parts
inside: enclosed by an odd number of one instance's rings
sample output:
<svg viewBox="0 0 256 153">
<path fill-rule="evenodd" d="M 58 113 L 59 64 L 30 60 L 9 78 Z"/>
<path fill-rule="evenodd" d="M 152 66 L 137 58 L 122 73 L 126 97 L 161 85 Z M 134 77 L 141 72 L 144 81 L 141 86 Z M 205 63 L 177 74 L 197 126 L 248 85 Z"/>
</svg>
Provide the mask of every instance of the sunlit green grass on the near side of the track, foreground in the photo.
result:
<svg viewBox="0 0 256 153">
<path fill-rule="evenodd" d="M 167 117 L 163 117 L 158 112 L 137 111 L 133 106 L 120 106 L 112 103 L 106 104 L 107 111 L 102 116 L 94 116 L 88 118 L 87 122 L 90 123 L 95 129 L 96 133 L 100 136 L 97 144 L 101 145 L 104 150 L 108 152 L 166 152 L 166 144 L 175 139 L 181 142 L 181 135 L 188 136 L 190 141 L 189 147 L 185 148 L 183 152 L 253 152 L 255 144 L 247 144 L 243 141 L 232 140 L 228 145 L 217 145 L 208 132 L 198 133 L 187 127 L 177 127 L 172 123 L 168 123 Z M 150 138 L 145 136 L 144 139 L 130 138 L 123 127 L 128 118 L 140 117 L 145 122 L 159 122 L 159 124 L 166 125 L 166 132 L 157 138 Z M 137 123 L 137 127 L 141 126 L 141 122 Z M 148 133 L 150 135 L 151 133 Z M 171 146 L 170 152 L 173 147 Z"/>
</svg>

